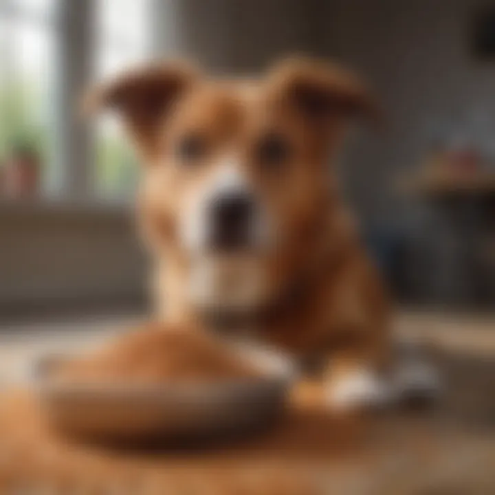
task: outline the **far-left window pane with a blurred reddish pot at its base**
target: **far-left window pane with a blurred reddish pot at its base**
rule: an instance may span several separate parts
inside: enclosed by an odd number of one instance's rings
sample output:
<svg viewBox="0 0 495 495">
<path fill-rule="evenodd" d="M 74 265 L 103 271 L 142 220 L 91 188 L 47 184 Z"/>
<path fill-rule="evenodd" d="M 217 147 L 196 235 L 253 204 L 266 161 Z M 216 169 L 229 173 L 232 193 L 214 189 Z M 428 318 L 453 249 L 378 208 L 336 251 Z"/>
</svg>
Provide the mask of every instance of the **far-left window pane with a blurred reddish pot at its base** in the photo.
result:
<svg viewBox="0 0 495 495">
<path fill-rule="evenodd" d="M 54 187 L 56 0 L 0 0 L 0 189 Z"/>
</svg>

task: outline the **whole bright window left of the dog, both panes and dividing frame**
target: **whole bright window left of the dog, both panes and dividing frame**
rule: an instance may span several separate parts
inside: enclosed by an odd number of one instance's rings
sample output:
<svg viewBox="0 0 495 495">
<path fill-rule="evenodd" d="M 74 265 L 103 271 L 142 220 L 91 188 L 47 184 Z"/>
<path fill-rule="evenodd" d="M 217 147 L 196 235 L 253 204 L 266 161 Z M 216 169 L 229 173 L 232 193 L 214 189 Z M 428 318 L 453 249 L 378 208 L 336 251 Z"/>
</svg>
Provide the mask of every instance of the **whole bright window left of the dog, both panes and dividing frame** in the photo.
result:
<svg viewBox="0 0 495 495">
<path fill-rule="evenodd" d="M 98 122 L 92 148 L 72 109 L 89 79 L 151 55 L 155 1 L 0 0 L 0 196 L 129 197 L 137 166 L 117 123 Z"/>
</svg>

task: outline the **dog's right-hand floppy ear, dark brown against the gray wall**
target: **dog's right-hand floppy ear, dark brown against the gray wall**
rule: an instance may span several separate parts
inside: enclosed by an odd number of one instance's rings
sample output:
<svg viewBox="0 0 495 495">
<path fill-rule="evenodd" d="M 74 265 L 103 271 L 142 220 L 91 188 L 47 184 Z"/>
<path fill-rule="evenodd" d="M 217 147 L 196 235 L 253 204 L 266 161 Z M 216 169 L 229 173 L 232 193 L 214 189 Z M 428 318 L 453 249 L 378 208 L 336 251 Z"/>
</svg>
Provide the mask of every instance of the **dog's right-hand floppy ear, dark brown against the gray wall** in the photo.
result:
<svg viewBox="0 0 495 495">
<path fill-rule="evenodd" d="M 320 130 L 342 120 L 378 120 L 380 112 L 360 78 L 333 63 L 283 61 L 272 72 L 276 91 Z"/>
</svg>

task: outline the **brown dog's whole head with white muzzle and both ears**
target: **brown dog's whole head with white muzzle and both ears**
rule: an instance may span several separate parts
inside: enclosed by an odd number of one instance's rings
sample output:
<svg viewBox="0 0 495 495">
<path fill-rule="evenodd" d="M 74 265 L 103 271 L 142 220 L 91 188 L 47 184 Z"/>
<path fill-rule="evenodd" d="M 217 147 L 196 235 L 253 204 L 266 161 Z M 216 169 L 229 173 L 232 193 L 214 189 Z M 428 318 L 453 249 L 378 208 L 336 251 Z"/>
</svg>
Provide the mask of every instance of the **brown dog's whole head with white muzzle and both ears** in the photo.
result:
<svg viewBox="0 0 495 495">
<path fill-rule="evenodd" d="M 371 109 L 353 76 L 306 61 L 249 82 L 153 67 L 97 101 L 122 112 L 142 155 L 153 248 L 188 259 L 199 299 L 242 305 L 283 283 L 277 261 L 308 241 L 327 207 L 329 153 L 347 118 Z M 216 282 L 232 277 L 242 283 Z"/>
</svg>

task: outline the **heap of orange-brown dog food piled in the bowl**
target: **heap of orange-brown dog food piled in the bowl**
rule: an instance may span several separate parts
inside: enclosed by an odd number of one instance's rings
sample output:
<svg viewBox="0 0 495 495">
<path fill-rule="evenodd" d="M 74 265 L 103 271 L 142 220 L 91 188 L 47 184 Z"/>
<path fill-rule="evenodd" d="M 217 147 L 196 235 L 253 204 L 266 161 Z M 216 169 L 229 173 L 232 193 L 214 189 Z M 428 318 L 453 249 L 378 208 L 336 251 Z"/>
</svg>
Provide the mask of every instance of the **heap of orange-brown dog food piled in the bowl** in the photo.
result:
<svg viewBox="0 0 495 495">
<path fill-rule="evenodd" d="M 59 364 L 58 380 L 159 384 L 214 382 L 259 376 L 219 338 L 164 325 L 146 325 L 92 355 Z"/>
</svg>

